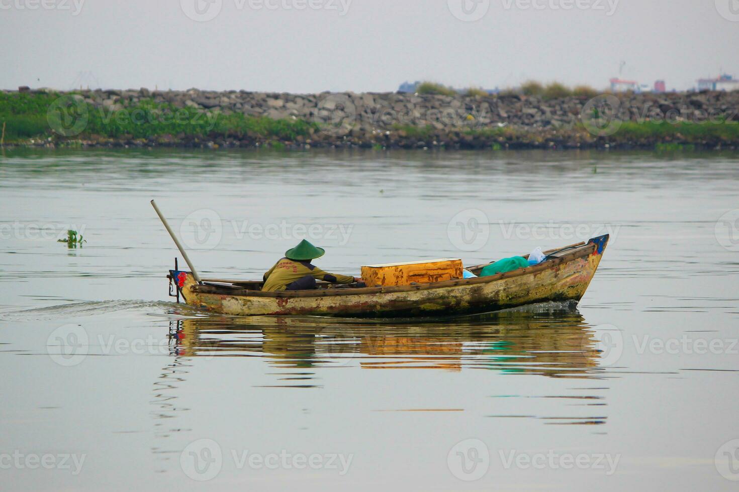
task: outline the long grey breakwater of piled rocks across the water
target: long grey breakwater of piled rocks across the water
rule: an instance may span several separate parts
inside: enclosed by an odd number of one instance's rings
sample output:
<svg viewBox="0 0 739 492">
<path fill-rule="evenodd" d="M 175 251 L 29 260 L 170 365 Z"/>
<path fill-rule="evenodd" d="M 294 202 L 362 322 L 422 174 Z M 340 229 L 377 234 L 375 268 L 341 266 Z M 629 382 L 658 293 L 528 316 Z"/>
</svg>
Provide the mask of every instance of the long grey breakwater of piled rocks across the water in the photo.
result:
<svg viewBox="0 0 739 492">
<path fill-rule="evenodd" d="M 38 92 L 38 91 L 32 91 Z M 133 113 L 143 104 L 185 108 L 211 125 L 198 131 L 106 138 L 82 131 L 69 139 L 91 145 L 381 148 L 599 148 L 689 143 L 736 147 L 739 91 L 665 94 L 591 94 L 544 100 L 523 94 L 321 93 L 249 91 L 95 90 L 60 93 L 84 103 L 103 121 Z M 306 122 L 304 131 L 276 134 L 219 124 L 230 115 L 255 122 Z M 137 121 L 134 114 L 130 120 Z M 142 120 L 141 124 L 150 123 Z M 186 121 L 185 121 L 186 123 Z M 641 125 L 641 126 L 640 126 Z M 708 126 L 725 125 L 706 132 Z M 259 127 L 259 125 L 256 125 Z M 639 128 L 651 128 L 640 132 Z M 698 131 L 687 131 L 687 128 Z M 178 128 L 183 128 L 182 125 Z M 654 129 L 658 128 L 659 131 Z M 732 133 L 733 132 L 733 133 Z M 688 134 L 689 133 L 689 134 Z M 85 137 L 87 135 L 87 137 Z"/>
</svg>

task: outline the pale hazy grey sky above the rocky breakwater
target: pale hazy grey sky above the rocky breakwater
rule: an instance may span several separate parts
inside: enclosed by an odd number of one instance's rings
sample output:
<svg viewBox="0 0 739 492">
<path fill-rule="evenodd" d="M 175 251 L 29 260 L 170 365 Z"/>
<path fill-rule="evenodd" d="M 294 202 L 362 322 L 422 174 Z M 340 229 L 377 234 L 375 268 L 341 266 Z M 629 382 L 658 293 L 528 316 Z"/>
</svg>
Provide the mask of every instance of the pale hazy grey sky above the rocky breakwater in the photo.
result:
<svg viewBox="0 0 739 492">
<path fill-rule="evenodd" d="M 0 0 L 0 32 L 4 89 L 602 89 L 621 61 L 668 89 L 739 76 L 739 0 Z"/>
</svg>

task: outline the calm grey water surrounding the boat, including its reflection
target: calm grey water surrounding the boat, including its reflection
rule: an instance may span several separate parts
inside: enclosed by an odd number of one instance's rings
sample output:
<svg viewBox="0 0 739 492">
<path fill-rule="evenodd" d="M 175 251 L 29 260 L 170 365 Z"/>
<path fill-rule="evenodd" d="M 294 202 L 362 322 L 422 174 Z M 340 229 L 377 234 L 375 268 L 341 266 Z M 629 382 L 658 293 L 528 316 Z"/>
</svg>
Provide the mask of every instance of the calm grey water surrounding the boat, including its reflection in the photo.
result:
<svg viewBox="0 0 739 492">
<path fill-rule="evenodd" d="M 2 488 L 736 490 L 738 185 L 732 153 L 6 152 Z M 151 198 L 205 277 L 306 236 L 343 274 L 611 240 L 577 308 L 236 319 L 168 297 Z"/>
</svg>

